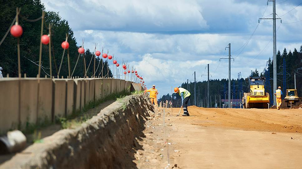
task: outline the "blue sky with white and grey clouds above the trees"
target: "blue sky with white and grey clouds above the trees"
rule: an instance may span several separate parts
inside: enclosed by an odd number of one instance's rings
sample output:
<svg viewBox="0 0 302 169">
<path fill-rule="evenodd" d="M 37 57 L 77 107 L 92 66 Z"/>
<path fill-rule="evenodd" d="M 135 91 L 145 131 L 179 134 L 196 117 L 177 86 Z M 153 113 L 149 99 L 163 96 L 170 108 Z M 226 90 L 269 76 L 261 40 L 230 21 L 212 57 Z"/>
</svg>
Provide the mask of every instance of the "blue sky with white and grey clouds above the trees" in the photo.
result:
<svg viewBox="0 0 302 169">
<path fill-rule="evenodd" d="M 266 0 L 41 2 L 46 11 L 59 12 L 68 21 L 79 46 L 84 39 L 85 48 L 93 50 L 97 43 L 97 50 L 109 50 L 120 64 L 128 61 L 147 88 L 156 85 L 159 97 L 187 79 L 194 81 L 194 71 L 197 81 L 207 80 L 207 64 L 211 79 L 228 78 L 228 60 L 220 60 L 228 57 L 228 43 L 234 58 L 231 79 L 239 72 L 245 78 L 255 68 L 262 72 L 273 55 L 272 21 L 258 24 L 262 16 L 272 18 L 272 2 L 267 6 Z M 282 19 L 282 24 L 276 21 L 281 53 L 284 48 L 299 51 L 302 45 L 302 4 L 296 7 L 301 2 L 276 0 L 276 14 Z"/>
</svg>

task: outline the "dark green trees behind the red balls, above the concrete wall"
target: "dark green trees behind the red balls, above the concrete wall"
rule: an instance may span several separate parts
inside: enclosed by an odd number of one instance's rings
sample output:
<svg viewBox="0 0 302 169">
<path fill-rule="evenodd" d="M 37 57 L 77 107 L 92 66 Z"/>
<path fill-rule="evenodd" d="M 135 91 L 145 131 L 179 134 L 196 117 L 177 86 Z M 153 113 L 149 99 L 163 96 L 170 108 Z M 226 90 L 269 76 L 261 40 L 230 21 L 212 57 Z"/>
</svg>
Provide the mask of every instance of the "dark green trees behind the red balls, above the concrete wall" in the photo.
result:
<svg viewBox="0 0 302 169">
<path fill-rule="evenodd" d="M 19 25 L 23 28 L 23 34 L 20 37 L 20 60 L 21 60 L 21 74 L 27 74 L 27 77 L 36 77 L 38 74 L 38 61 L 40 50 L 40 34 L 41 34 L 41 20 L 34 20 L 42 15 L 45 11 L 44 4 L 40 0 L 2 0 L 0 6 L 0 38 L 4 37 L 7 29 L 10 27 L 14 17 L 16 16 L 16 7 L 21 8 L 19 16 Z M 24 19 L 25 18 L 25 19 Z M 43 34 L 48 34 L 48 26 L 51 24 L 51 59 L 52 59 L 52 75 L 57 76 L 58 69 L 61 63 L 63 49 L 61 43 L 65 41 L 66 34 L 68 34 L 69 51 L 66 50 L 63 57 L 62 67 L 60 71 L 60 78 L 65 78 L 68 73 L 67 52 L 70 55 L 70 69 L 73 71 L 76 60 L 78 58 L 78 48 L 82 43 L 77 44 L 74 33 L 70 28 L 68 21 L 62 19 L 58 12 L 47 11 L 44 17 Z M 81 40 L 80 40 L 81 42 Z M 85 42 L 84 42 L 85 47 Z M 3 68 L 3 75 L 9 74 L 10 77 L 18 76 L 18 62 L 17 62 L 17 39 L 8 34 L 6 39 L 0 46 L 0 66 Z M 73 76 L 84 77 L 85 64 L 88 69 L 90 59 L 95 56 L 94 52 L 86 48 L 85 53 L 81 54 L 77 63 Z M 85 63 L 84 63 L 85 57 Z M 103 67 L 103 75 L 107 75 L 109 70 L 109 77 L 112 77 L 112 72 L 106 60 L 100 57 L 96 58 L 95 70 L 100 62 L 100 67 L 95 75 L 99 75 Z M 103 65 L 103 66 L 102 66 Z M 94 59 L 92 59 L 87 76 L 93 75 Z M 50 74 L 49 65 L 49 47 L 42 45 L 42 59 L 41 59 L 41 77 Z M 49 76 L 48 76 L 49 77 Z"/>
</svg>

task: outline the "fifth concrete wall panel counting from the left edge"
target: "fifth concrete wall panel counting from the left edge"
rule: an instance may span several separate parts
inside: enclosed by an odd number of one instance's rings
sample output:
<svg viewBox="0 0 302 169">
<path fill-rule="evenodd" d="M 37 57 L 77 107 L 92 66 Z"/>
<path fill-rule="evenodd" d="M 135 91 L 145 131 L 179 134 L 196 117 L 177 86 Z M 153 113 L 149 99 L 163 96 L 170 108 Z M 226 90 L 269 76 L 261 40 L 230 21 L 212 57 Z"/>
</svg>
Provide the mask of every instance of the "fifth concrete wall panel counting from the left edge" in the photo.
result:
<svg viewBox="0 0 302 169">
<path fill-rule="evenodd" d="M 66 80 L 66 115 L 71 115 L 74 110 L 74 83 L 73 79 Z"/>
</svg>

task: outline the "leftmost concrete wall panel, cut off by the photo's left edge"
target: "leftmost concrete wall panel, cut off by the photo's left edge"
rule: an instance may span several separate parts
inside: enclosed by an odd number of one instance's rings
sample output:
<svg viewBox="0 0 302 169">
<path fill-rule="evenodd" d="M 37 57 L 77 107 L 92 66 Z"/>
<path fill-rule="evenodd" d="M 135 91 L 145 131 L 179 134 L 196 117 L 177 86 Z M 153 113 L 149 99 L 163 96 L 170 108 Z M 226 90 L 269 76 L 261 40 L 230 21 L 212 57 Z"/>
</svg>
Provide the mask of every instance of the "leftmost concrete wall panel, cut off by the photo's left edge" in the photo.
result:
<svg viewBox="0 0 302 169">
<path fill-rule="evenodd" d="M 17 129 L 19 123 L 19 80 L 0 80 L 0 133 Z"/>
</svg>

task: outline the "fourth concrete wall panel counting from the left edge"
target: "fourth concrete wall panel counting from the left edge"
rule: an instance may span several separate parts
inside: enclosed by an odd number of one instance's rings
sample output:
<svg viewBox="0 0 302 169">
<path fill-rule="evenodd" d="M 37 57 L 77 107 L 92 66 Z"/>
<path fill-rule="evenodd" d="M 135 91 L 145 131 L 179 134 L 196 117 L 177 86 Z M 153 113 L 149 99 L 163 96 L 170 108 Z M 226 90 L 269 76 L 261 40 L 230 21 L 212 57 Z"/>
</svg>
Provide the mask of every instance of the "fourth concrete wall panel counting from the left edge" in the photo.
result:
<svg viewBox="0 0 302 169">
<path fill-rule="evenodd" d="M 54 117 L 65 117 L 66 107 L 66 80 L 54 79 L 55 89 L 55 104 L 54 104 Z"/>
</svg>

